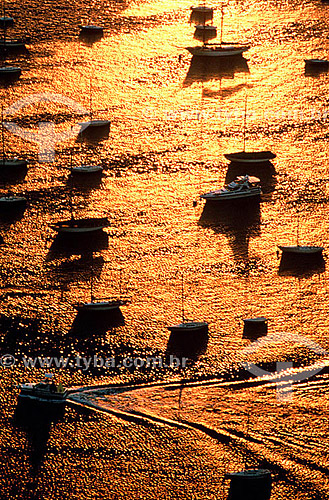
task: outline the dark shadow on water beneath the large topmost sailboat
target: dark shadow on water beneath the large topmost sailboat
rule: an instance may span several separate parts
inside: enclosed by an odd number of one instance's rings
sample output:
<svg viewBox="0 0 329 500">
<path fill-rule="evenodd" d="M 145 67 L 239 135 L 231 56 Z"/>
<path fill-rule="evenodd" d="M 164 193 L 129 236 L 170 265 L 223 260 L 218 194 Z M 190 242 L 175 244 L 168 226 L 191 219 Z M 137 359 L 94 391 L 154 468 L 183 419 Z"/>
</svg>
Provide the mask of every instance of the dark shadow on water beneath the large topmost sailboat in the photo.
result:
<svg viewBox="0 0 329 500">
<path fill-rule="evenodd" d="M 227 58 L 205 58 L 193 56 L 183 81 L 183 87 L 188 87 L 194 82 L 208 82 L 222 78 L 234 79 L 236 73 L 249 73 L 248 61 L 242 56 Z"/>
</svg>

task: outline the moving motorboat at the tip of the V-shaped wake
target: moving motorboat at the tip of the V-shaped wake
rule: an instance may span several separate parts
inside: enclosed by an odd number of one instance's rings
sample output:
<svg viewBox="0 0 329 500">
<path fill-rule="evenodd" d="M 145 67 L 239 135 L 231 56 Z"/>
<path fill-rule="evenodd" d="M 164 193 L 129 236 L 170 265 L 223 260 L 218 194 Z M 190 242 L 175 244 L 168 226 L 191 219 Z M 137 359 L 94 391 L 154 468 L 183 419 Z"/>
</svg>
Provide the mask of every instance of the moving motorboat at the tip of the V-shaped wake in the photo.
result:
<svg viewBox="0 0 329 500">
<path fill-rule="evenodd" d="M 20 393 L 18 397 L 20 399 L 29 399 L 51 404 L 65 403 L 68 395 L 67 389 L 65 389 L 62 384 L 56 385 L 52 379 L 53 374 L 48 373 L 41 382 L 21 384 L 19 386 Z"/>
</svg>

